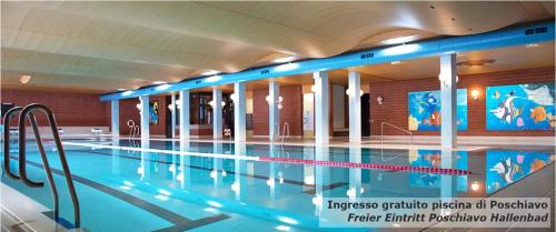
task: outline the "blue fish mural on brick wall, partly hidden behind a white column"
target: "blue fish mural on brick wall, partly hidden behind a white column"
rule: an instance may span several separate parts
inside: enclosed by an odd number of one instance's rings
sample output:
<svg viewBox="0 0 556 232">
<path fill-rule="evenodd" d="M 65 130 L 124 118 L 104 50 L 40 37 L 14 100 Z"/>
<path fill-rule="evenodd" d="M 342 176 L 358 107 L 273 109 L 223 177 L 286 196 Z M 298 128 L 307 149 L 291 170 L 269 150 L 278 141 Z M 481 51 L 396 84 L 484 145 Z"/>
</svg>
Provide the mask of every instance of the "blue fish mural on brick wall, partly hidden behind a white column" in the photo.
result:
<svg viewBox="0 0 556 232">
<path fill-rule="evenodd" d="M 408 93 L 409 130 L 440 130 L 440 91 Z M 457 90 L 457 130 L 467 130 L 467 89 Z"/>
</svg>

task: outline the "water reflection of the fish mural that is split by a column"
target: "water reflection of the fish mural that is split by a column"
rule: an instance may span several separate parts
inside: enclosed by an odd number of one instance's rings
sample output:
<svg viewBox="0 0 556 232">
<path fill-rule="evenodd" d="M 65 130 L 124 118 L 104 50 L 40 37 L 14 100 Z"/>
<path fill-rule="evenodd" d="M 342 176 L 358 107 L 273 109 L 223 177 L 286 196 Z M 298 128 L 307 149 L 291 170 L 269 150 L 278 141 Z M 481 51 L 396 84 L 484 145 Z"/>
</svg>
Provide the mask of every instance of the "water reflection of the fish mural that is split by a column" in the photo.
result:
<svg viewBox="0 0 556 232">
<path fill-rule="evenodd" d="M 409 151 L 409 165 L 427 168 L 447 168 L 441 167 L 441 151 L 435 150 L 411 150 Z M 467 170 L 467 151 L 457 151 L 453 153 L 451 160 L 455 160 L 455 167 L 451 169 Z M 441 174 L 433 173 L 409 173 L 409 185 L 440 189 Z M 467 175 L 457 175 L 456 190 L 458 192 L 467 191 Z"/>
</svg>

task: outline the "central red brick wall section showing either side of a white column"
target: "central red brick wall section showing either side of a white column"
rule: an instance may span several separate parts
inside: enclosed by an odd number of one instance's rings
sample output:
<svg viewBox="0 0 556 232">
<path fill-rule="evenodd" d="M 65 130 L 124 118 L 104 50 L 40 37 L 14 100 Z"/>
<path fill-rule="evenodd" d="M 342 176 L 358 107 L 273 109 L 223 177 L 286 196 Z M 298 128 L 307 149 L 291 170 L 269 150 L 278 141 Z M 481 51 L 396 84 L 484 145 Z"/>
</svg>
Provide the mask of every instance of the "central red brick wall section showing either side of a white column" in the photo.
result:
<svg viewBox="0 0 556 232">
<path fill-rule="evenodd" d="M 255 135 L 268 135 L 268 89 L 252 91 L 252 131 Z M 302 135 L 302 93 L 301 85 L 281 85 L 284 108 L 280 110 L 280 132 L 288 122 L 290 135 Z"/>
</svg>

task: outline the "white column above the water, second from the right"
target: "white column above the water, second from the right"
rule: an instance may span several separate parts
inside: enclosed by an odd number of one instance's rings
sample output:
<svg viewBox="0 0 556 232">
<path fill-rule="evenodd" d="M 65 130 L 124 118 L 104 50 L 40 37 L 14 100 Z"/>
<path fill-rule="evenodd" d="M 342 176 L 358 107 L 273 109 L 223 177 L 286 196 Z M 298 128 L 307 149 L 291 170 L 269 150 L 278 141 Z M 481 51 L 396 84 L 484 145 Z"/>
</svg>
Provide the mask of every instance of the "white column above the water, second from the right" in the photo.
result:
<svg viewBox="0 0 556 232">
<path fill-rule="evenodd" d="M 349 142 L 361 142 L 361 78 L 359 72 L 349 71 Z"/>
</svg>

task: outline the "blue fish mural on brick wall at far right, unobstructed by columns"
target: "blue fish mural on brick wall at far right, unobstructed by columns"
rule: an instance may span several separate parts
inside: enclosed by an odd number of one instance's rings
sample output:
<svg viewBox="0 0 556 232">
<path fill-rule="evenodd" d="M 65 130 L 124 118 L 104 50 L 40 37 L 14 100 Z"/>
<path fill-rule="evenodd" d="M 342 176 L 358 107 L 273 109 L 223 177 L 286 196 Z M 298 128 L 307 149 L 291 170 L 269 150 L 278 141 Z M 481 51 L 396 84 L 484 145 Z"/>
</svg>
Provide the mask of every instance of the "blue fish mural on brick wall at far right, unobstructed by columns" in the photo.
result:
<svg viewBox="0 0 556 232">
<path fill-rule="evenodd" d="M 486 127 L 496 130 L 554 130 L 554 83 L 488 87 Z"/>
</svg>

